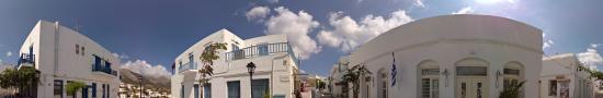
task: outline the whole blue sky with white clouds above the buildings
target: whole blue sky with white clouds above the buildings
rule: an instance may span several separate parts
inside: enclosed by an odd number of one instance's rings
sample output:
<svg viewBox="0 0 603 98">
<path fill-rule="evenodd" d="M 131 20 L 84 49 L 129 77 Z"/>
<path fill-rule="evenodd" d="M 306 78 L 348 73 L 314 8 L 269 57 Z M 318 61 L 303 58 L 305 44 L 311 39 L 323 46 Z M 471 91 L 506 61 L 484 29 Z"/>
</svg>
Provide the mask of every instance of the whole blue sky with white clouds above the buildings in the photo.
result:
<svg viewBox="0 0 603 98">
<path fill-rule="evenodd" d="M 37 20 L 75 27 L 123 58 L 124 65 L 170 69 L 203 37 L 227 28 L 242 38 L 285 34 L 300 68 L 328 75 L 340 56 L 380 33 L 420 19 L 488 14 L 534 25 L 546 34 L 547 56 L 579 53 L 602 65 L 601 0 L 52 0 L 0 1 L 0 60 L 16 51 Z M 255 10 L 255 11 L 254 11 Z M 12 54 L 8 54 L 11 52 Z M 599 69 L 603 69 L 600 66 Z M 153 71 L 153 70 L 141 70 Z"/>
</svg>

